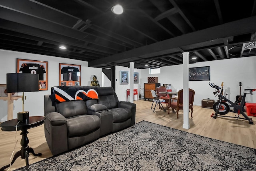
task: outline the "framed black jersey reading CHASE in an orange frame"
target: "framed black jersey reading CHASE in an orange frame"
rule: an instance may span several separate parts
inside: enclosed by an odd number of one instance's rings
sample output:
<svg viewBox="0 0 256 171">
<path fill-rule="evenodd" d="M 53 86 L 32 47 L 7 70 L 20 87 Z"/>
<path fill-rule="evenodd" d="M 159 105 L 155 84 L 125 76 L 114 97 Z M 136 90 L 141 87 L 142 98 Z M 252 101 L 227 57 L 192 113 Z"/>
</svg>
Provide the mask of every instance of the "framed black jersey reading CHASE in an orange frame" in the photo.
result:
<svg viewBox="0 0 256 171">
<path fill-rule="evenodd" d="M 80 65 L 60 63 L 59 68 L 59 86 L 81 85 Z"/>
</svg>

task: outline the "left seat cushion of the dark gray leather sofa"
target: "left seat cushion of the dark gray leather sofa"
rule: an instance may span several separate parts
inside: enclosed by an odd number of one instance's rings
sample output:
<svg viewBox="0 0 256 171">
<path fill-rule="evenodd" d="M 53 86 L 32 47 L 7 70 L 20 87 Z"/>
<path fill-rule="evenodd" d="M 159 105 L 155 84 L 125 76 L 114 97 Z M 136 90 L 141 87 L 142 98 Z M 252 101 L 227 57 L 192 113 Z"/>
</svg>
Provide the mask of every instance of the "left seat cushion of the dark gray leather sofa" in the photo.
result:
<svg viewBox="0 0 256 171">
<path fill-rule="evenodd" d="M 96 115 L 80 115 L 67 119 L 68 137 L 86 135 L 100 128 L 100 118 Z"/>
</svg>

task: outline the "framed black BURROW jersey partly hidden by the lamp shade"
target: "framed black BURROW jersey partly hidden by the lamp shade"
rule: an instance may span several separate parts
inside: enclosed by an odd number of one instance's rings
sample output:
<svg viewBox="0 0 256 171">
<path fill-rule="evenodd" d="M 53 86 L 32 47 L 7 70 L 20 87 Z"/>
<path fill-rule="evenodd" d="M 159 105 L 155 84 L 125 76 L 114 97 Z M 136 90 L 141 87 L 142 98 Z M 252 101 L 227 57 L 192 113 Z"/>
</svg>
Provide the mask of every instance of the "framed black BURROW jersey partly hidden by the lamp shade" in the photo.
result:
<svg viewBox="0 0 256 171">
<path fill-rule="evenodd" d="M 17 59 L 17 73 L 39 75 L 39 91 L 48 90 L 48 62 Z"/>
</svg>

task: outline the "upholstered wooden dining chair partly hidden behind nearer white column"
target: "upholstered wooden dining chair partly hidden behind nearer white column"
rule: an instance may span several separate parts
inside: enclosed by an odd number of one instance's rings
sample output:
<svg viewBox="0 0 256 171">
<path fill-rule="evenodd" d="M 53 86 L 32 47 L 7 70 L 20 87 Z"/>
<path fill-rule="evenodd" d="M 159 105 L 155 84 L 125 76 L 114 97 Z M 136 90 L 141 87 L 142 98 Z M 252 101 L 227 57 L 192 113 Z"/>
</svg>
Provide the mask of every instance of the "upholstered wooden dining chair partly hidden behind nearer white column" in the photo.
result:
<svg viewBox="0 0 256 171">
<path fill-rule="evenodd" d="M 191 117 L 192 113 L 194 111 L 193 109 L 193 103 L 194 103 L 194 95 L 195 95 L 195 91 L 193 89 L 188 89 L 188 103 L 189 103 L 189 109 L 191 109 Z M 176 98 L 172 98 L 172 99 L 176 99 Z M 179 118 L 179 110 L 183 110 L 183 89 L 181 89 L 180 91 L 178 91 L 178 99 L 176 99 L 177 101 L 175 102 L 171 102 L 171 107 L 172 107 L 172 111 L 174 111 L 174 109 L 176 109 L 177 112 L 177 118 Z"/>
</svg>

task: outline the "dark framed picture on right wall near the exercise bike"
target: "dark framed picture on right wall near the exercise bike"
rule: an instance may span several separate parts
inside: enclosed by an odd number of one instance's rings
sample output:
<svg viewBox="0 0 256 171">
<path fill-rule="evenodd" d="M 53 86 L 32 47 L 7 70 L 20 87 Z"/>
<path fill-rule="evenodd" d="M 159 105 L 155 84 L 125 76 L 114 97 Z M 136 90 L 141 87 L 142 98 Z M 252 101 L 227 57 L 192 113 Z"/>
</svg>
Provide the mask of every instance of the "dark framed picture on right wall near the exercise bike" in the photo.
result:
<svg viewBox="0 0 256 171">
<path fill-rule="evenodd" d="M 210 66 L 188 68 L 188 81 L 210 81 Z"/>
</svg>

